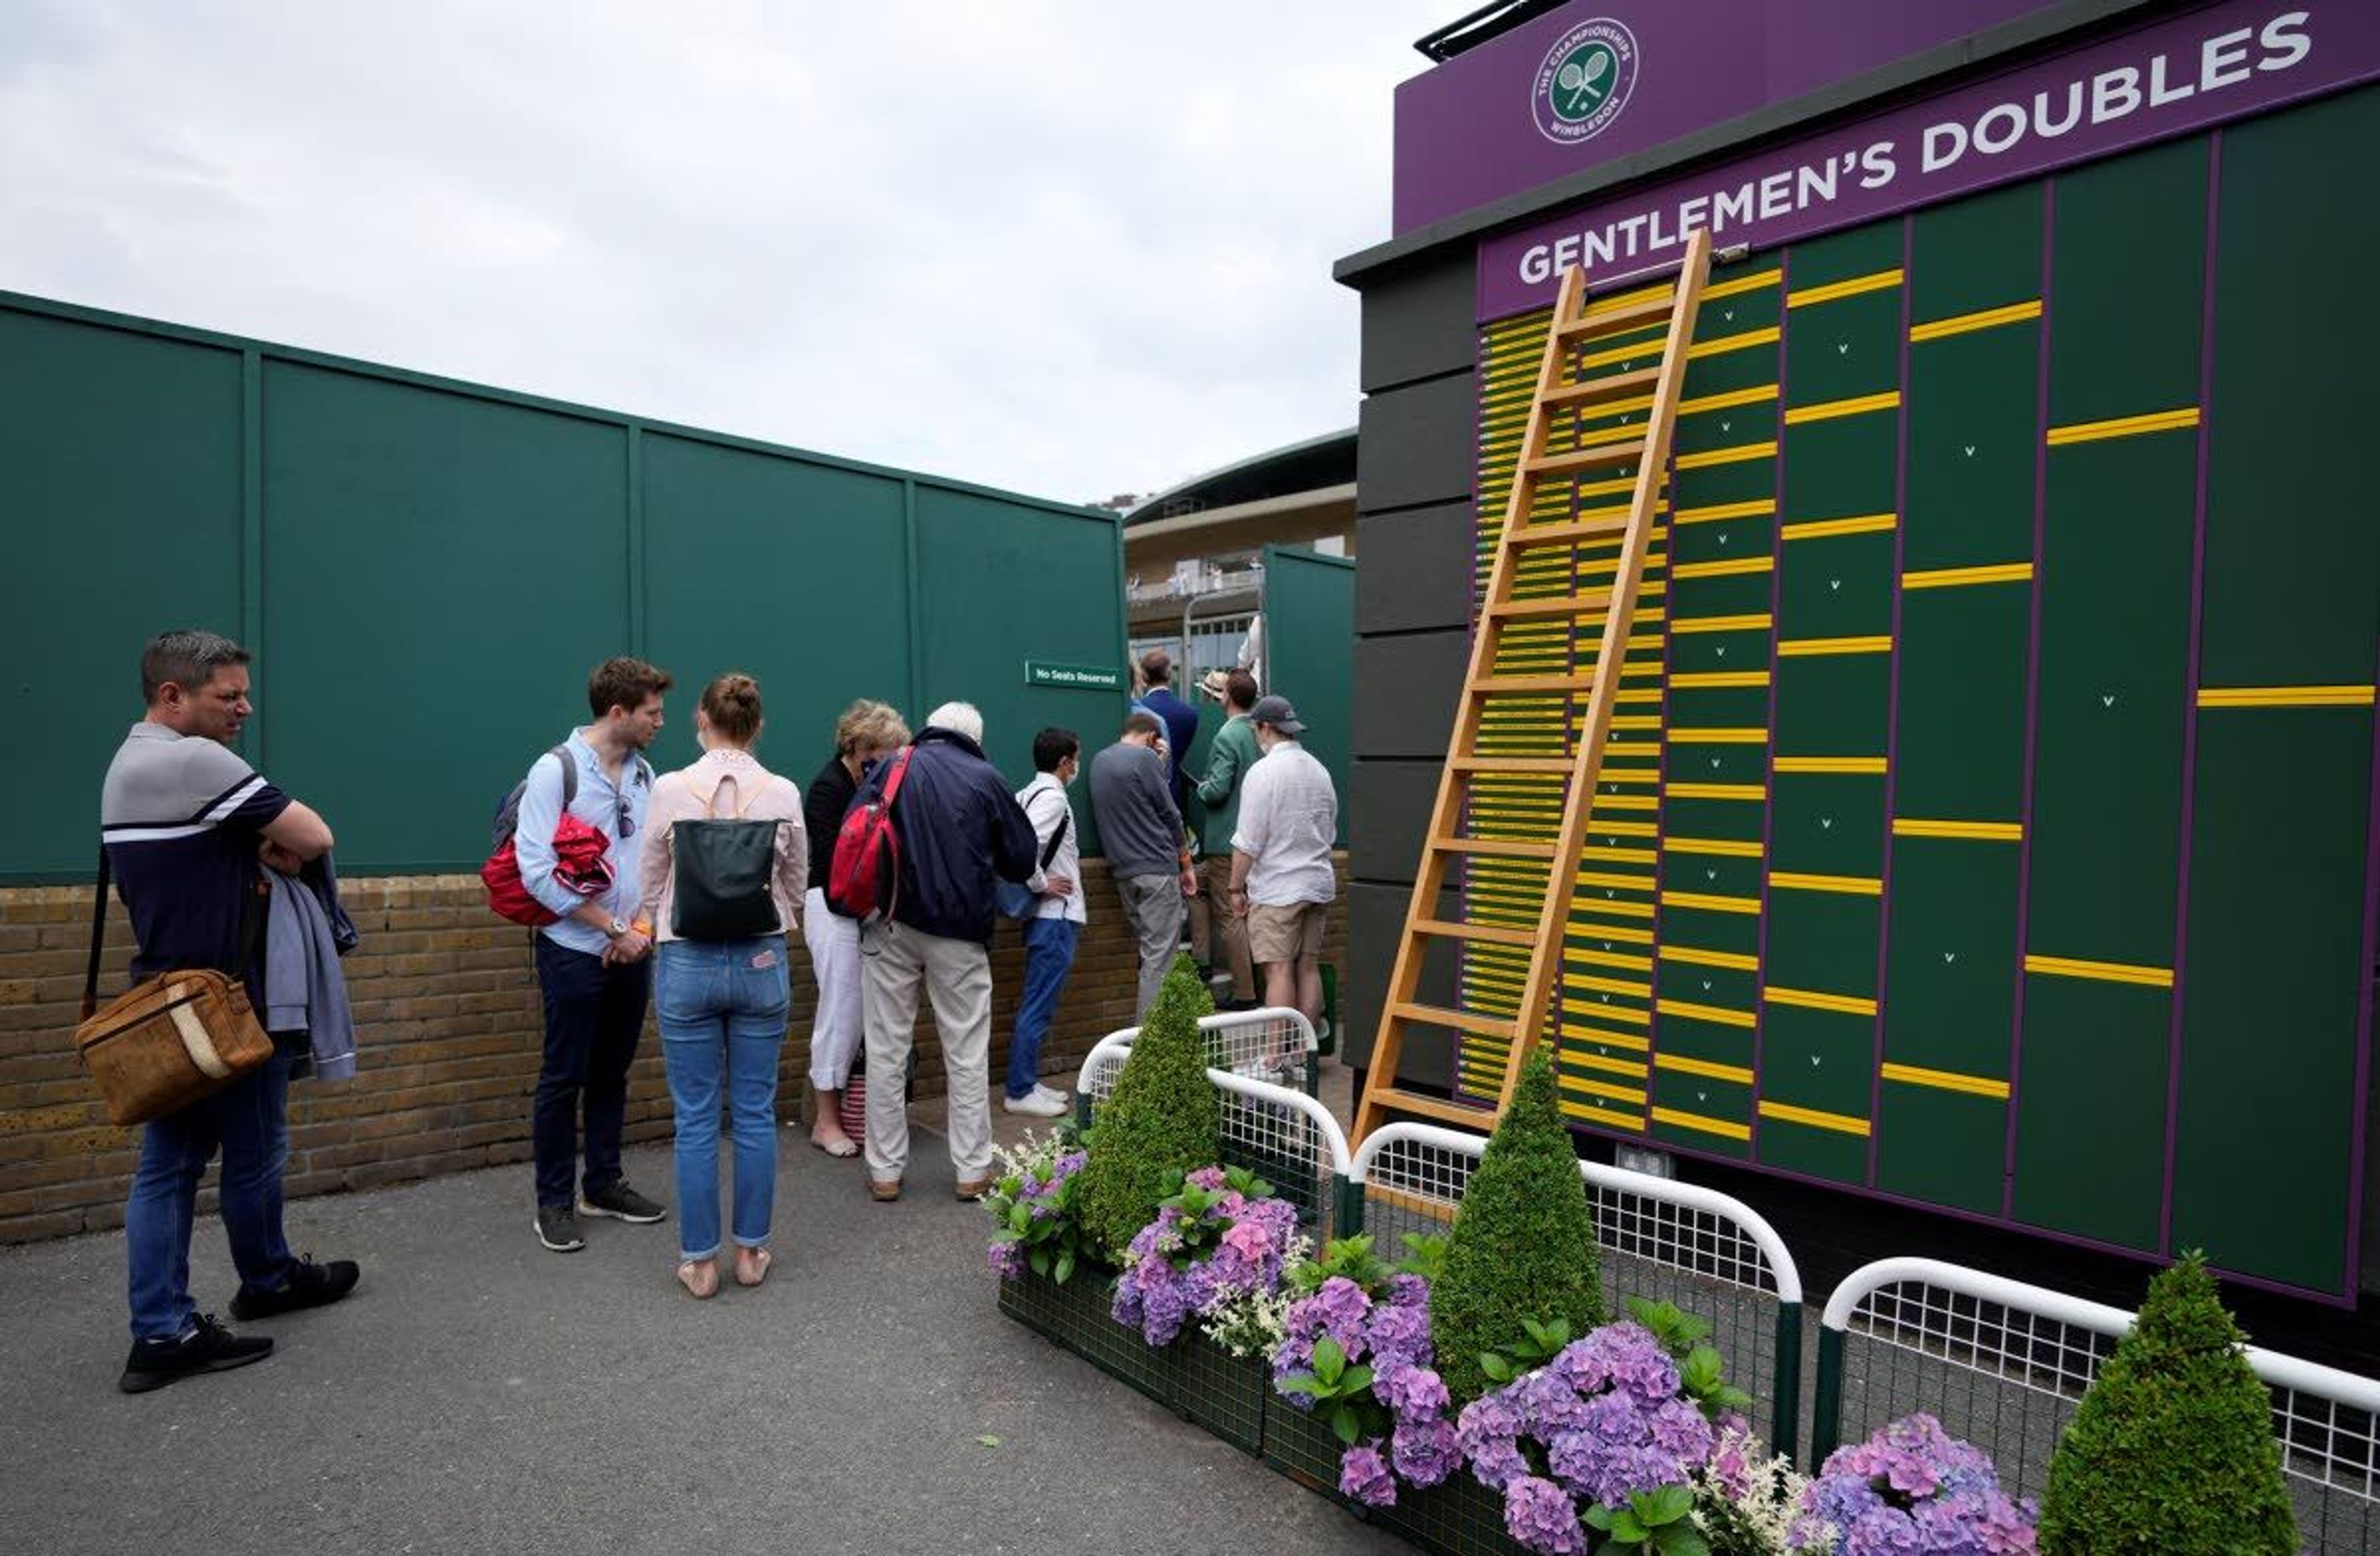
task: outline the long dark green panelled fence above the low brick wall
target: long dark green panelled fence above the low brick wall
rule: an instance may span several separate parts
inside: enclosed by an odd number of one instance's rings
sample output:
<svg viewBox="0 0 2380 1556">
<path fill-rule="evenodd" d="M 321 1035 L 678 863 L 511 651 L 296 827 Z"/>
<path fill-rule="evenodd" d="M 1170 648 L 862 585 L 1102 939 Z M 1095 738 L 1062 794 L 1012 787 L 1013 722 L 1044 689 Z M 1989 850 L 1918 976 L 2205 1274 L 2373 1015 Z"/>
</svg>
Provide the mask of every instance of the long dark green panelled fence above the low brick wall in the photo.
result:
<svg viewBox="0 0 2380 1556">
<path fill-rule="evenodd" d="M 476 868 L 616 652 L 678 678 L 662 768 L 726 669 L 759 676 L 762 754 L 802 783 L 852 697 L 912 723 L 976 702 L 1019 785 L 1035 728 L 1097 745 L 1123 709 L 1026 685 L 1028 659 L 1121 671 L 1111 514 L 7 293 L 0 519 L 10 711 L 55 795 L 10 785 L 7 883 L 90 868 L 169 626 L 257 650 L 243 749 L 357 876 Z"/>
</svg>

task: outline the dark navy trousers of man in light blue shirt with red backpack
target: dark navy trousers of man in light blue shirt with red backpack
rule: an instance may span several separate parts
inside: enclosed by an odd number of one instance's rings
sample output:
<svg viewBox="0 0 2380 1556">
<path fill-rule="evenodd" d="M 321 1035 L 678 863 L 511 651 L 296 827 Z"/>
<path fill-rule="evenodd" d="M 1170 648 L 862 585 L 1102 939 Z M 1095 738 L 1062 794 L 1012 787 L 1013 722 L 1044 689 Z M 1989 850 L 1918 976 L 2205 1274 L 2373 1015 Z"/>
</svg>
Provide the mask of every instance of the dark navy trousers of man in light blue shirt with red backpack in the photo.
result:
<svg viewBox="0 0 2380 1556">
<path fill-rule="evenodd" d="M 545 995 L 545 1066 L 531 1142 L 538 1204 L 571 1204 L 578 1116 L 585 1113 L 588 1190 L 619 1180 L 619 1130 L 628 1116 L 628 1066 L 645 1030 L 652 961 L 607 966 L 538 935 L 538 990 Z"/>
</svg>

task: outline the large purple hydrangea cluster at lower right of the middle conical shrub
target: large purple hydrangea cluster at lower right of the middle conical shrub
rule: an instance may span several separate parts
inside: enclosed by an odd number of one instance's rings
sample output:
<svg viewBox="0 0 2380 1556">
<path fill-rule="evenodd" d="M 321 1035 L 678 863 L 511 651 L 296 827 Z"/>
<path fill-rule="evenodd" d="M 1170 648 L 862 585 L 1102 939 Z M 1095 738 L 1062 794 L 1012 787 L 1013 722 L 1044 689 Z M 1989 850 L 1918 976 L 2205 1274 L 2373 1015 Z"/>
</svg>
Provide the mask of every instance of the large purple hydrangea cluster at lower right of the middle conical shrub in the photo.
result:
<svg viewBox="0 0 2380 1556">
<path fill-rule="evenodd" d="M 1504 1492 L 1507 1532 L 1561 1556 L 1585 1549 L 1573 1499 L 1626 1506 L 1711 1461 L 1718 1435 L 1678 1385 L 1678 1363 L 1649 1330 L 1611 1323 L 1466 1404 L 1457 1439 L 1480 1485 Z M 1542 1449 L 1549 1477 L 1526 1442 Z"/>
</svg>

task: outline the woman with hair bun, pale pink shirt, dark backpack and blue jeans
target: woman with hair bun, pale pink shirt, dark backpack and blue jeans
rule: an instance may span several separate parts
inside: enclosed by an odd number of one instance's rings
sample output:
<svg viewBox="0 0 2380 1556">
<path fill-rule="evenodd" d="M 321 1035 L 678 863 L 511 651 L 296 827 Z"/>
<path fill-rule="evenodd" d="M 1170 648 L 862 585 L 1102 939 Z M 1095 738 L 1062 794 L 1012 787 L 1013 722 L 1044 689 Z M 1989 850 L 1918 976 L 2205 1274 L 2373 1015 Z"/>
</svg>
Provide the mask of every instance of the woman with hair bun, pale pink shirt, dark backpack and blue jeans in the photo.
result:
<svg viewBox="0 0 2380 1556">
<path fill-rule="evenodd" d="M 769 1275 L 785 935 L 809 876 L 802 790 L 752 757 L 759 683 L 721 676 L 695 709 L 702 759 L 652 785 L 638 930 L 659 945 L 652 1009 L 678 1113 L 678 1285 L 719 1290 L 719 1092 L 735 1118 L 735 1282 Z M 647 930 L 650 926 L 650 930 Z"/>
</svg>

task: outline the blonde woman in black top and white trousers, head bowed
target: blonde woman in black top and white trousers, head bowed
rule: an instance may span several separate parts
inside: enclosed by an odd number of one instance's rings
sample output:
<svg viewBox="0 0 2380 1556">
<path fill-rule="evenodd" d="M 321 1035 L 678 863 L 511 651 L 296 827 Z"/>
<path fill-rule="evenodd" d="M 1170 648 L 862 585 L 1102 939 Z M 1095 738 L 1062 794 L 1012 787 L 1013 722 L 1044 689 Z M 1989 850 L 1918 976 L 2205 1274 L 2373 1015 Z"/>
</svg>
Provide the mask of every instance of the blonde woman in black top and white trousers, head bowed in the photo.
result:
<svg viewBox="0 0 2380 1556">
<path fill-rule="evenodd" d="M 819 1092 L 819 1121 L 809 1125 L 809 1144 L 828 1156 L 859 1154 L 859 1142 L 843 1133 L 843 1087 L 852 1078 L 866 1018 L 859 1009 L 859 926 L 826 906 L 826 876 L 835 864 L 843 811 L 859 792 L 859 773 L 904 745 L 909 726 L 892 707 L 859 699 L 843 709 L 843 719 L 835 719 L 835 754 L 809 780 L 802 807 L 812 835 L 802 940 L 809 945 L 809 971 L 819 980 L 819 1016 L 809 1028 L 809 1085 Z"/>
</svg>

